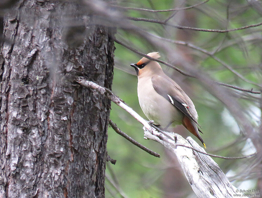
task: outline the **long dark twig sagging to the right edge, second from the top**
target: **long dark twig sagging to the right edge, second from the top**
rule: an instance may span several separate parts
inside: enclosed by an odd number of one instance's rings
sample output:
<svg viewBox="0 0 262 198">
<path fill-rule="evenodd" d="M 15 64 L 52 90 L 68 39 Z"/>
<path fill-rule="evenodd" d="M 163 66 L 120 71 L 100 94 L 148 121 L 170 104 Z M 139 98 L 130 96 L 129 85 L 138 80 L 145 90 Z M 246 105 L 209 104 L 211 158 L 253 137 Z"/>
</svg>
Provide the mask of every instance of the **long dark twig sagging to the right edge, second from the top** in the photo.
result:
<svg viewBox="0 0 262 198">
<path fill-rule="evenodd" d="M 150 23 L 158 23 L 158 24 L 162 24 L 162 25 L 171 26 L 171 27 L 174 27 L 174 28 L 177 28 L 177 29 L 189 29 L 189 30 L 201 31 L 201 32 L 218 32 L 218 33 L 233 32 L 233 31 L 237 31 L 237 30 L 247 29 L 247 28 L 251 28 L 251 27 L 258 27 L 258 26 L 262 25 L 262 22 L 261 22 L 261 23 L 257 23 L 257 24 L 253 24 L 253 25 L 249 25 L 249 26 L 223 30 L 223 29 L 204 29 L 204 28 L 179 26 L 179 25 L 173 25 L 173 24 L 167 23 L 165 21 L 157 20 L 157 19 L 147 19 L 147 18 L 141 18 L 141 17 L 140 18 L 127 17 L 127 18 L 132 20 L 132 21 L 145 21 L 145 22 L 150 22 Z"/>
</svg>

